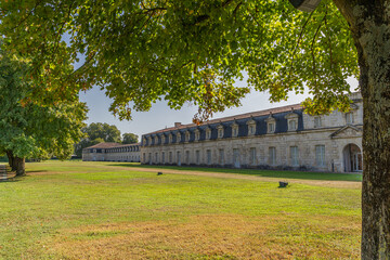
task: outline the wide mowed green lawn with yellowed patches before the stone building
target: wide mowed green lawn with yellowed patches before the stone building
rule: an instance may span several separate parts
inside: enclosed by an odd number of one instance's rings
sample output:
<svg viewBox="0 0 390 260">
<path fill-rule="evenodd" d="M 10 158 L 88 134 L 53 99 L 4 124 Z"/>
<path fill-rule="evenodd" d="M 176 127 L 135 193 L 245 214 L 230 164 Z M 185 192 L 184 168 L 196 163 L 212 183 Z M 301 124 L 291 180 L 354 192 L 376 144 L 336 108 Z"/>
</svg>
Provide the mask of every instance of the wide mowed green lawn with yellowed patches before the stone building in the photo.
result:
<svg viewBox="0 0 390 260">
<path fill-rule="evenodd" d="M 92 161 L 27 170 L 0 182 L 0 259 L 360 257 L 359 174 Z"/>
</svg>

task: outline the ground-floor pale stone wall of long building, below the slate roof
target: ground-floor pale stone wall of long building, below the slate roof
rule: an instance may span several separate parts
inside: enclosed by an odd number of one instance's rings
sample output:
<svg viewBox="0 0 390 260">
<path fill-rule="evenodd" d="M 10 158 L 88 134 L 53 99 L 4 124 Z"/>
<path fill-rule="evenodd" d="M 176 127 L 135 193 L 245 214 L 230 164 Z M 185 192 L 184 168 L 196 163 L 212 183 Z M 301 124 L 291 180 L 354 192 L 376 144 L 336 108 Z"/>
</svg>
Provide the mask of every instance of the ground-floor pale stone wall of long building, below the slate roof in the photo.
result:
<svg viewBox="0 0 390 260">
<path fill-rule="evenodd" d="M 181 165 L 207 166 L 207 150 L 211 151 L 210 166 L 235 167 L 233 150 L 239 151 L 239 167 L 245 168 L 278 168 L 308 169 L 314 171 L 343 172 L 342 151 L 348 144 L 356 144 L 362 150 L 361 134 L 342 138 L 329 138 L 334 130 L 312 130 L 288 132 L 280 134 L 264 134 L 250 138 L 232 138 L 226 140 L 203 141 L 196 143 L 143 146 L 141 148 L 142 164 L 162 164 L 161 154 L 165 152 L 165 164 L 177 165 L 180 152 Z M 325 145 L 325 166 L 315 162 L 315 145 Z M 298 147 L 298 167 L 291 165 L 290 146 Z M 276 148 L 276 165 L 270 165 L 269 148 Z M 256 161 L 252 164 L 250 148 L 256 148 Z M 224 162 L 220 164 L 219 150 L 224 151 Z M 190 152 L 190 164 L 185 160 L 185 152 Z M 200 161 L 196 164 L 196 151 L 200 153 Z M 169 153 L 172 161 L 169 161 Z M 158 155 L 156 161 L 156 153 Z M 150 160 L 151 154 L 151 160 Z M 145 157 L 144 157 L 145 156 Z"/>
</svg>

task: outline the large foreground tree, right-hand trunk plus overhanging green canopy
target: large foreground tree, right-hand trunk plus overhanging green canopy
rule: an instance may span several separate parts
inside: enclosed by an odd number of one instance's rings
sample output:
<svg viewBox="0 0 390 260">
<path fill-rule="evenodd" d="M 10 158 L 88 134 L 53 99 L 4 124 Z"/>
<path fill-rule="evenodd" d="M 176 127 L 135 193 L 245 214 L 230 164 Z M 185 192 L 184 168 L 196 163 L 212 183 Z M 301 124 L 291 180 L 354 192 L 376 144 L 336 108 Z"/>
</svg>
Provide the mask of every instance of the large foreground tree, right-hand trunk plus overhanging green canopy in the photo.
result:
<svg viewBox="0 0 390 260">
<path fill-rule="evenodd" d="M 31 76 L 50 82 L 50 91 L 61 93 L 65 82 L 64 95 L 72 98 L 100 84 L 120 118 L 165 99 L 172 108 L 197 105 L 194 119 L 204 120 L 239 104 L 248 89 L 233 82 L 243 72 L 249 87 L 269 91 L 272 101 L 307 86 L 313 94 L 304 102 L 308 113 L 346 110 L 346 79 L 359 77 L 364 102 L 362 258 L 388 259 L 389 10 L 390 0 L 323 0 L 312 13 L 286 0 L 2 1 L 0 32 L 10 50 L 34 53 Z M 76 61 L 78 53 L 84 64 L 66 73 L 63 62 Z"/>
</svg>

